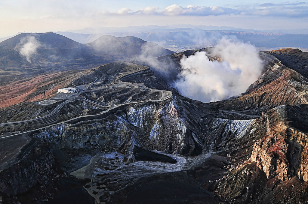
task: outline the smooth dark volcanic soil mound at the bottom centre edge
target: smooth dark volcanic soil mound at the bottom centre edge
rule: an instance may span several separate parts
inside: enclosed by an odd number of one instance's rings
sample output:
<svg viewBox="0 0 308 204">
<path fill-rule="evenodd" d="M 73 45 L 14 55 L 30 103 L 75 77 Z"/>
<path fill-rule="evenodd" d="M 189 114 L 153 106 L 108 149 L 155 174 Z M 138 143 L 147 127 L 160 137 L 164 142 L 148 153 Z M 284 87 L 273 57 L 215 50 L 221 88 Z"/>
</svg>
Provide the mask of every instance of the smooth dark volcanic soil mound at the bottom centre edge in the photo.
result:
<svg viewBox="0 0 308 204">
<path fill-rule="evenodd" d="M 219 198 L 189 178 L 185 172 L 164 173 L 140 179 L 113 194 L 110 203 L 218 204 Z"/>
</svg>

